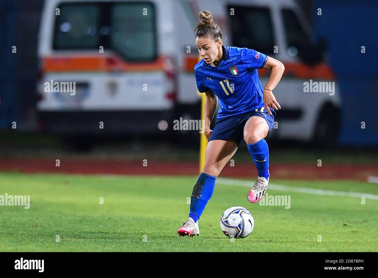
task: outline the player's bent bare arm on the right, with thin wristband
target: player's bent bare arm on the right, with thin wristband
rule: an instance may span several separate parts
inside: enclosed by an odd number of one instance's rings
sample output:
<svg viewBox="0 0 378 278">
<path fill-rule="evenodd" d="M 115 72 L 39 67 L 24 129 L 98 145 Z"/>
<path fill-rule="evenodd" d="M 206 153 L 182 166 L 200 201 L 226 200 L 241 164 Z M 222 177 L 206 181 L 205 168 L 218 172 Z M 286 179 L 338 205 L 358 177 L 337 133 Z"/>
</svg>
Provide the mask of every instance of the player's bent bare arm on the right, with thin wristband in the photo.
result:
<svg viewBox="0 0 378 278">
<path fill-rule="evenodd" d="M 278 82 L 281 80 L 283 71 L 285 70 L 285 66 L 278 60 L 266 56 L 266 63 L 263 68 L 268 68 L 271 70 L 270 77 L 268 83 L 266 83 L 266 86 L 263 91 L 264 96 L 264 104 L 265 109 L 268 111 L 270 115 L 272 115 L 272 112 L 270 111 L 269 107 L 272 107 L 273 109 L 281 109 L 280 104 L 277 102 L 276 98 L 273 95 L 273 90 L 276 88 Z"/>
</svg>

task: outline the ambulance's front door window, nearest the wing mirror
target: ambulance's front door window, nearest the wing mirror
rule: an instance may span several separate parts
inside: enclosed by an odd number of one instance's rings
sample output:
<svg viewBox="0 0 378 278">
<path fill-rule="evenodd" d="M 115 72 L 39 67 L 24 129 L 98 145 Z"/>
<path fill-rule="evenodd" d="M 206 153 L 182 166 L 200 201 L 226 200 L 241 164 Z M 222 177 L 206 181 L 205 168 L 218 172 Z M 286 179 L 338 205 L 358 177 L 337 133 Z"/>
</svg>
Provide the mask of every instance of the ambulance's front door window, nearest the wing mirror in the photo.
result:
<svg viewBox="0 0 378 278">
<path fill-rule="evenodd" d="M 288 54 L 290 56 L 302 56 L 311 47 L 307 35 L 292 10 L 283 9 L 282 17 L 287 38 Z"/>
</svg>

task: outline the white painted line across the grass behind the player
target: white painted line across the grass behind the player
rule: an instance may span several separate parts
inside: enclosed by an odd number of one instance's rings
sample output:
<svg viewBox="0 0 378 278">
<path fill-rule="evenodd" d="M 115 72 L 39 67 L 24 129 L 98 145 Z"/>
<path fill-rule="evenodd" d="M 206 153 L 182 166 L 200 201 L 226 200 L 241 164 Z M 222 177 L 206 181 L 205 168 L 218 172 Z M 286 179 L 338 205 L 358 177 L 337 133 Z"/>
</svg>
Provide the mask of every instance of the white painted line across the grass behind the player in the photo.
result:
<svg viewBox="0 0 378 278">
<path fill-rule="evenodd" d="M 225 185 L 245 186 L 245 187 L 252 188 L 254 182 L 250 182 L 248 180 L 218 178 L 217 183 L 225 184 Z M 306 187 L 285 186 L 285 185 L 278 185 L 274 183 L 269 183 L 268 188 L 279 190 L 279 191 L 291 191 L 291 192 L 308 193 L 308 194 L 315 194 L 315 195 L 358 197 L 358 198 L 365 197 L 365 199 L 378 200 L 378 195 L 362 193 L 362 192 L 333 191 L 333 190 L 324 190 L 324 189 L 315 189 L 315 188 L 306 188 Z"/>
</svg>

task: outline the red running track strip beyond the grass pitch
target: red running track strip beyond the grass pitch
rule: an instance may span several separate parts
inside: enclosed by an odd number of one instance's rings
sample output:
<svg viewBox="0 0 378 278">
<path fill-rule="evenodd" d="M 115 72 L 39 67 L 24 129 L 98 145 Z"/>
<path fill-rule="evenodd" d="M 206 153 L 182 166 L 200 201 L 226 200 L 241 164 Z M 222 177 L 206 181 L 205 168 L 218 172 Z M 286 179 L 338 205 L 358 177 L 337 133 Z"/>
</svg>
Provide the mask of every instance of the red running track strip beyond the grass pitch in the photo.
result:
<svg viewBox="0 0 378 278">
<path fill-rule="evenodd" d="M 0 159 L 0 171 L 19 171 L 24 173 L 64 173 L 64 174 L 119 174 L 119 175 L 198 175 L 198 163 L 161 162 L 125 160 L 84 160 L 60 159 L 60 166 L 55 166 L 55 159 Z M 366 181 L 369 175 L 378 176 L 376 165 L 296 165 L 277 164 L 270 166 L 275 179 L 354 179 Z M 222 177 L 240 177 L 256 179 L 257 170 L 252 163 L 227 164 L 221 172 Z"/>
</svg>

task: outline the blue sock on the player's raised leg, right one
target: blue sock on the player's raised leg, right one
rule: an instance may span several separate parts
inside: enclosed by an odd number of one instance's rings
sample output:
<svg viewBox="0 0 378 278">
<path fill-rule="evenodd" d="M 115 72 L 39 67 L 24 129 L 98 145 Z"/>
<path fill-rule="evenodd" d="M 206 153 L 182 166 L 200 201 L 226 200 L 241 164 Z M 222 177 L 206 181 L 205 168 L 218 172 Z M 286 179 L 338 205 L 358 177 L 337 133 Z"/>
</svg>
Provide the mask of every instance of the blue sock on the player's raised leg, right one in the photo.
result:
<svg viewBox="0 0 378 278">
<path fill-rule="evenodd" d="M 259 171 L 259 177 L 269 177 L 269 148 L 265 139 L 254 144 L 247 144 L 248 151 L 251 154 L 253 162 L 256 165 L 257 171 Z"/>
</svg>

